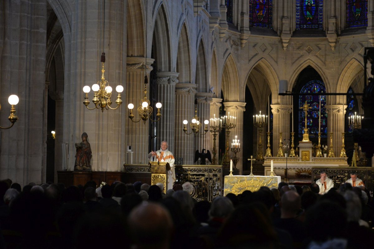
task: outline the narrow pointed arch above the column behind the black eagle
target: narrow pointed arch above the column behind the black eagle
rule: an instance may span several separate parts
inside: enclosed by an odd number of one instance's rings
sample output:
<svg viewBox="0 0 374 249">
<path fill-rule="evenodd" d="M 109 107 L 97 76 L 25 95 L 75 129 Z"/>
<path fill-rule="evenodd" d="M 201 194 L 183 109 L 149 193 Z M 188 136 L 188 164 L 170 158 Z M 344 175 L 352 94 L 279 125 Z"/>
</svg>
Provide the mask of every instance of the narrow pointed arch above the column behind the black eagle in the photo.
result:
<svg viewBox="0 0 374 249">
<path fill-rule="evenodd" d="M 199 92 L 208 92 L 208 74 L 206 70 L 206 54 L 205 46 L 202 39 L 200 39 L 199 48 L 197 49 L 196 58 L 196 84 Z"/>
</svg>

